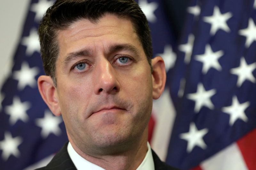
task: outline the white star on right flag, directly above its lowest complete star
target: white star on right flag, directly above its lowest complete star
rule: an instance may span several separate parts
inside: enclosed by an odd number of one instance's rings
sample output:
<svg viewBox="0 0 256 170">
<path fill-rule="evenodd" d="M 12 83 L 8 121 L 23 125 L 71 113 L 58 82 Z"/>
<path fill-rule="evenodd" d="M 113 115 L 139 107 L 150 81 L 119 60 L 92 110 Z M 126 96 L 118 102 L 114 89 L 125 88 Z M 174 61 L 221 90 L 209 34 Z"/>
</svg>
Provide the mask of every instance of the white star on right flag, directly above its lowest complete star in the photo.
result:
<svg viewBox="0 0 256 170">
<path fill-rule="evenodd" d="M 187 98 L 195 101 L 195 113 L 198 113 L 200 109 L 205 106 L 209 109 L 214 109 L 211 97 L 216 93 L 215 89 L 206 91 L 202 83 L 198 83 L 196 93 L 187 94 Z"/>
</svg>

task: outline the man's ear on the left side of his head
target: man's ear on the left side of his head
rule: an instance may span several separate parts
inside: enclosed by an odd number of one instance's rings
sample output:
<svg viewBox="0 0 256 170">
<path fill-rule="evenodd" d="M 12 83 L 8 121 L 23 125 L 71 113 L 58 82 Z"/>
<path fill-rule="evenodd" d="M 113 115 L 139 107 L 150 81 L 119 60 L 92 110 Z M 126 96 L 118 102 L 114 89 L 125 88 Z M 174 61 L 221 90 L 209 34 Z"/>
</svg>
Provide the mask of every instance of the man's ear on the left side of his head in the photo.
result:
<svg viewBox="0 0 256 170">
<path fill-rule="evenodd" d="M 37 79 L 38 90 L 55 116 L 60 116 L 60 105 L 57 97 L 57 90 L 50 76 L 40 76 Z"/>
</svg>

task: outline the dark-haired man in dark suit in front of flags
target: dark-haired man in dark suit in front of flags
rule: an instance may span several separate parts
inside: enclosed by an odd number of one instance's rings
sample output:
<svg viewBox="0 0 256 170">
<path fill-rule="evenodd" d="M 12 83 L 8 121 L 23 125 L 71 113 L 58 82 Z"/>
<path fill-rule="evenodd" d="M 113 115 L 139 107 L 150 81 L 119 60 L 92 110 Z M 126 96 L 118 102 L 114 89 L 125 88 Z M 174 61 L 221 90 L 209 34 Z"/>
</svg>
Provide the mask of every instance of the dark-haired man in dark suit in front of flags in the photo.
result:
<svg viewBox="0 0 256 170">
<path fill-rule="evenodd" d="M 39 26 L 40 94 L 62 115 L 69 143 L 40 169 L 172 169 L 147 143 L 161 57 L 133 0 L 57 0 Z"/>
</svg>

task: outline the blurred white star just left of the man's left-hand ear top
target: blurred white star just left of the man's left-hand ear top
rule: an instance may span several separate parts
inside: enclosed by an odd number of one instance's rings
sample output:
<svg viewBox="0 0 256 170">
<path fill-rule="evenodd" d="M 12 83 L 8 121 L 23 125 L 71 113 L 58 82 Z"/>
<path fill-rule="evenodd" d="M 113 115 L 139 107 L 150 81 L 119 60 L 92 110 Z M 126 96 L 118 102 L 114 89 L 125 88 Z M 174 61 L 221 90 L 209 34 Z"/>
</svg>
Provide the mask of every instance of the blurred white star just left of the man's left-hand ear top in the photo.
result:
<svg viewBox="0 0 256 170">
<path fill-rule="evenodd" d="M 18 80 L 18 89 L 23 90 L 26 85 L 34 88 L 36 87 L 35 76 L 39 73 L 37 67 L 30 68 L 27 62 L 21 64 L 21 69 L 19 71 L 13 72 L 13 78 Z"/>
</svg>

